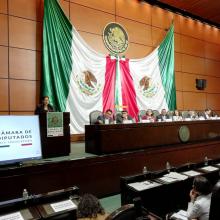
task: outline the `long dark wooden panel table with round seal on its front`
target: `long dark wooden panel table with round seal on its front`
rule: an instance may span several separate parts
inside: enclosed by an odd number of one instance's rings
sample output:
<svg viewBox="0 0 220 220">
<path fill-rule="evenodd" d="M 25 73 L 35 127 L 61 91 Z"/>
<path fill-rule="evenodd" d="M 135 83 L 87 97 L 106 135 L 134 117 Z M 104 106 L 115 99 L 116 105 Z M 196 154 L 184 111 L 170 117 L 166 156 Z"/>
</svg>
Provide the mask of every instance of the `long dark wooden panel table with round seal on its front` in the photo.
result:
<svg viewBox="0 0 220 220">
<path fill-rule="evenodd" d="M 213 140 L 220 140 L 220 120 L 85 126 L 86 152 L 98 155 Z"/>
</svg>

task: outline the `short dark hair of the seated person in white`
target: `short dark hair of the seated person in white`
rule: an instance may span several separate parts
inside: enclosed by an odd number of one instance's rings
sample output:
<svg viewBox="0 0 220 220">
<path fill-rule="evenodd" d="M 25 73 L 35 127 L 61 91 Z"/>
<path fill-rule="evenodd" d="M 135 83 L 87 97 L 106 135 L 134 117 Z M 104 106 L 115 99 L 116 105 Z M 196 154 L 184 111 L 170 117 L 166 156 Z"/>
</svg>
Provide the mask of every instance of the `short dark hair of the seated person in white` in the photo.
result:
<svg viewBox="0 0 220 220">
<path fill-rule="evenodd" d="M 195 177 L 193 181 L 193 188 L 201 193 L 202 195 L 207 195 L 212 191 L 212 185 L 208 179 L 203 176 Z"/>
</svg>

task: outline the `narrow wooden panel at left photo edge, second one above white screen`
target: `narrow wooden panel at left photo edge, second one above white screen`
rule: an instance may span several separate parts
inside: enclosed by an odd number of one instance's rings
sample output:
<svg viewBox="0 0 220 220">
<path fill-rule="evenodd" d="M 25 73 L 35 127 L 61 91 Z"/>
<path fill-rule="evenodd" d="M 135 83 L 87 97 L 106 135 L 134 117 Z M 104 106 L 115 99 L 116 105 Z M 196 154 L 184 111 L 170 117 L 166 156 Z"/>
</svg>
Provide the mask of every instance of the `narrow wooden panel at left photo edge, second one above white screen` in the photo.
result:
<svg viewBox="0 0 220 220">
<path fill-rule="evenodd" d="M 0 46 L 0 78 L 8 77 L 8 47 Z"/>
</svg>

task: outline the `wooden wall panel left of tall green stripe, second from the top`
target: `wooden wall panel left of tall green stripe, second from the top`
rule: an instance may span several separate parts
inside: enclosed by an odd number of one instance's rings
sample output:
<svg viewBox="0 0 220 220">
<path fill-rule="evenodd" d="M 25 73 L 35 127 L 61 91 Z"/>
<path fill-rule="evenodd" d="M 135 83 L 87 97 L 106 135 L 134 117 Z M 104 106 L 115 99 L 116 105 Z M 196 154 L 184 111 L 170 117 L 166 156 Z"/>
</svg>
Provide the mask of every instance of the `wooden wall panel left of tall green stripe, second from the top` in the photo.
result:
<svg viewBox="0 0 220 220">
<path fill-rule="evenodd" d="M 36 50 L 37 23 L 9 16 L 9 45 Z"/>
</svg>

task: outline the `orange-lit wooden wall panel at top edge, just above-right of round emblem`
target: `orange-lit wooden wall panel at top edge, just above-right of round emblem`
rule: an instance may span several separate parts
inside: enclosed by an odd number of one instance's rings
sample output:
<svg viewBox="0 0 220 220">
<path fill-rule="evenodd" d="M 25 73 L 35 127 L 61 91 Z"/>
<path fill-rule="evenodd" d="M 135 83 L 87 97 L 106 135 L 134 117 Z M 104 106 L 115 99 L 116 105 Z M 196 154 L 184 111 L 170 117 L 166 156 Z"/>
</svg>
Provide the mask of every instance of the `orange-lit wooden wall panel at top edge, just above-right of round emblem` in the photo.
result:
<svg viewBox="0 0 220 220">
<path fill-rule="evenodd" d="M 152 6 L 137 0 L 116 0 L 116 15 L 151 24 Z"/>
</svg>

